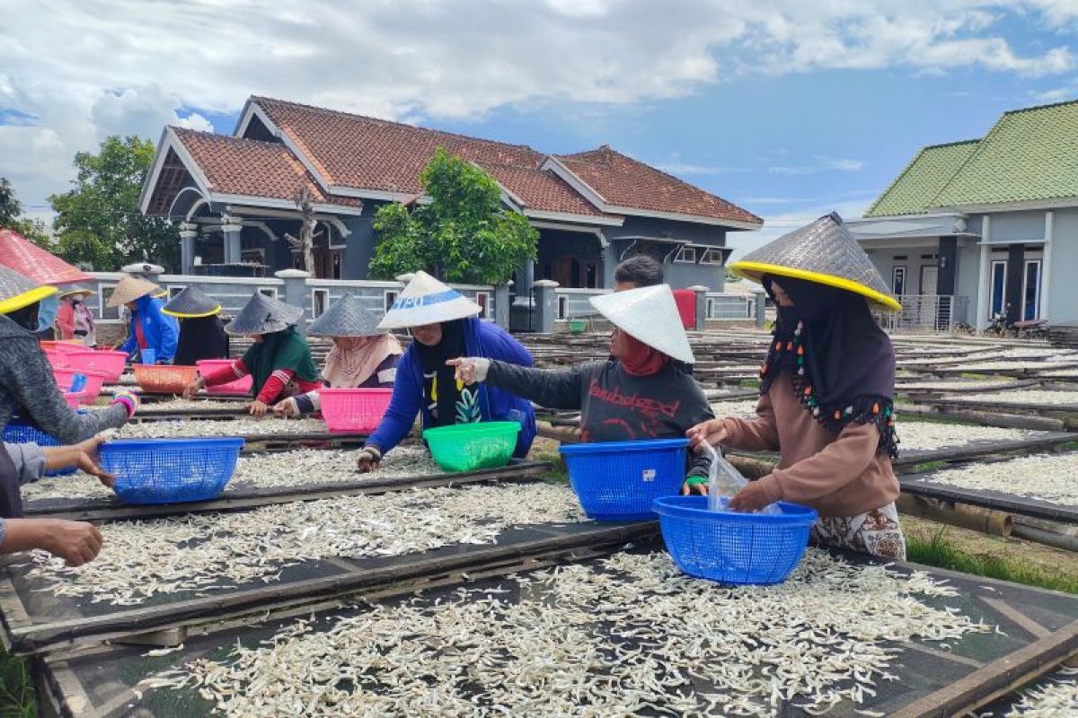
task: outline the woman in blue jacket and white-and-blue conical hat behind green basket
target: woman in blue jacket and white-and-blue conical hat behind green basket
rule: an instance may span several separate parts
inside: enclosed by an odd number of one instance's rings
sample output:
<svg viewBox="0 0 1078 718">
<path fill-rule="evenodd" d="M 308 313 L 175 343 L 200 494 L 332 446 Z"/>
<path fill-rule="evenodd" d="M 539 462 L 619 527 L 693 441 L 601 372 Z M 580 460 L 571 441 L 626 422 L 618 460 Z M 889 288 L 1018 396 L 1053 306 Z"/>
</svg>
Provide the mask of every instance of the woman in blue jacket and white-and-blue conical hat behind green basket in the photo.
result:
<svg viewBox="0 0 1078 718">
<path fill-rule="evenodd" d="M 382 456 L 407 436 L 419 416 L 424 428 L 481 421 L 521 425 L 514 456 L 526 456 L 536 435 L 531 404 L 493 386 L 468 388 L 446 361 L 485 356 L 531 366 L 531 354 L 496 324 L 481 321 L 483 309 L 425 271 L 417 271 L 378 325 L 407 328 L 415 339 L 397 367 L 389 409 L 357 456 L 359 470 L 374 470 Z"/>
</svg>

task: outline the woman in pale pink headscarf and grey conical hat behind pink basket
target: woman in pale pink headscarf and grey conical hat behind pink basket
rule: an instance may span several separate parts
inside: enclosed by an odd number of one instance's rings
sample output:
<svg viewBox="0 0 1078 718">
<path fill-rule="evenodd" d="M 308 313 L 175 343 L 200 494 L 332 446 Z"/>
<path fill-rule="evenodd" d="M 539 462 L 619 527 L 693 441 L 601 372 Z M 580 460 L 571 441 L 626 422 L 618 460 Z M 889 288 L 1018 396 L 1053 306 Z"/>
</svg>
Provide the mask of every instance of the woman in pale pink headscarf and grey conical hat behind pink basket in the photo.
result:
<svg viewBox="0 0 1078 718">
<path fill-rule="evenodd" d="M 330 337 L 333 349 L 326 356 L 322 383 L 342 389 L 388 389 L 397 379 L 403 350 L 397 337 L 378 328 L 379 318 L 351 294 L 330 305 L 310 323 L 307 334 Z M 282 399 L 273 410 L 278 417 L 314 413 L 321 408 L 318 391 Z"/>
</svg>

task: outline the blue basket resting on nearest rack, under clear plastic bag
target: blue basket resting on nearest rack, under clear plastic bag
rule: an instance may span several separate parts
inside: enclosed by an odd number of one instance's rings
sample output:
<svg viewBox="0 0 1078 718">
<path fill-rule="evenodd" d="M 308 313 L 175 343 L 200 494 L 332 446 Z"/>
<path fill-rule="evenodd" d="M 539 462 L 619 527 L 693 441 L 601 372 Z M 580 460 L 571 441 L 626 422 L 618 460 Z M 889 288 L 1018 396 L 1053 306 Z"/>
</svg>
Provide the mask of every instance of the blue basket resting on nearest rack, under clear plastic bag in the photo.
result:
<svg viewBox="0 0 1078 718">
<path fill-rule="evenodd" d="M 666 550 L 677 567 L 722 583 L 782 583 L 798 565 L 816 511 L 779 502 L 780 516 L 710 511 L 707 496 L 655 499 Z"/>
</svg>

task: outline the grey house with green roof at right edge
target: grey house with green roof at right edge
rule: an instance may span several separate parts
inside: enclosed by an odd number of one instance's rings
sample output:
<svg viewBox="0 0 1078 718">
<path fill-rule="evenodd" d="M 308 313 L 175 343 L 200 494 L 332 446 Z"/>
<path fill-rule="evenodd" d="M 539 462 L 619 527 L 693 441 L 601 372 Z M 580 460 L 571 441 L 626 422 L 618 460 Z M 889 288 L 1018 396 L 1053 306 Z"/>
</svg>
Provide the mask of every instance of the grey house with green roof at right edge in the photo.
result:
<svg viewBox="0 0 1078 718">
<path fill-rule="evenodd" d="M 924 147 L 847 226 L 922 324 L 1078 320 L 1078 101 Z"/>
</svg>

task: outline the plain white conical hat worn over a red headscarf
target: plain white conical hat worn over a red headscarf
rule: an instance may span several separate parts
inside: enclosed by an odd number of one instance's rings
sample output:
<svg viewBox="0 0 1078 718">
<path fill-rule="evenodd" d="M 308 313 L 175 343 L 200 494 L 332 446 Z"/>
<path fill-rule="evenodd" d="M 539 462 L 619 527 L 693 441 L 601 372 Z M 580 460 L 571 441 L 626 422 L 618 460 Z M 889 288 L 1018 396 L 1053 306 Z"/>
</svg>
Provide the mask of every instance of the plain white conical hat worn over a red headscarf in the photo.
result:
<svg viewBox="0 0 1078 718">
<path fill-rule="evenodd" d="M 667 284 L 613 292 L 591 298 L 592 306 L 619 329 L 671 358 L 695 364 L 674 292 Z"/>
</svg>

